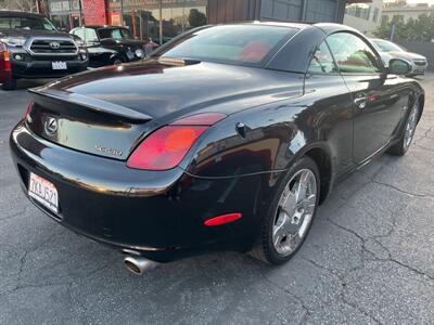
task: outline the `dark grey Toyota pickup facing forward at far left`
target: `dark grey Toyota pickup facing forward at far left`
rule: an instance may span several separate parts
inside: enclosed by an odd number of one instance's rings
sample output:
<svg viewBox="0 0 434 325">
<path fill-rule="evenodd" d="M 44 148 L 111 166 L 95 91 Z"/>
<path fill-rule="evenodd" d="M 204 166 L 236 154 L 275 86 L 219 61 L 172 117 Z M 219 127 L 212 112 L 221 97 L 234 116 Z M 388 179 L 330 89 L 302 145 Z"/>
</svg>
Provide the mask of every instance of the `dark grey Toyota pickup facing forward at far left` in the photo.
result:
<svg viewBox="0 0 434 325">
<path fill-rule="evenodd" d="M 0 42 L 11 65 L 10 77 L 0 80 L 4 90 L 15 89 L 17 79 L 58 78 L 88 66 L 86 49 L 39 14 L 0 11 Z"/>
</svg>

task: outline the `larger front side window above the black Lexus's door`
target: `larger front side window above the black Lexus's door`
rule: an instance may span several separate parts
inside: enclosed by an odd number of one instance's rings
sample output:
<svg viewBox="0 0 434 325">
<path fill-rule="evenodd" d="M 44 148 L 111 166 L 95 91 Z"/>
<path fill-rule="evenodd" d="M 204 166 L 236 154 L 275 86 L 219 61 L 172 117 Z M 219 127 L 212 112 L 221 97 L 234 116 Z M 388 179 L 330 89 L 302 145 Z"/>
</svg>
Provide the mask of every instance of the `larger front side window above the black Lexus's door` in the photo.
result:
<svg viewBox="0 0 434 325">
<path fill-rule="evenodd" d="M 379 58 L 368 44 L 349 32 L 336 32 L 327 38 L 341 73 L 380 73 Z"/>
</svg>

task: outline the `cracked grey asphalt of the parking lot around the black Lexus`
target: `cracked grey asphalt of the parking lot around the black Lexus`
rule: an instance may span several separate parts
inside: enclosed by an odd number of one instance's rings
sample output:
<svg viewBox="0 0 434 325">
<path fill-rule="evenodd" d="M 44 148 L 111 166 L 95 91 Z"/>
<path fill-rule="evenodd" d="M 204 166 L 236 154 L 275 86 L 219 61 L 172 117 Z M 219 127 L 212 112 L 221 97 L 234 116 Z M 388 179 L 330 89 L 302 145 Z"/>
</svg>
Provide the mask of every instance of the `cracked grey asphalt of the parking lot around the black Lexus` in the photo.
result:
<svg viewBox="0 0 434 325">
<path fill-rule="evenodd" d="M 141 277 L 25 199 L 8 138 L 36 84 L 0 91 L 0 324 L 432 324 L 434 75 L 422 83 L 410 151 L 335 187 L 292 261 L 225 252 Z"/>
</svg>

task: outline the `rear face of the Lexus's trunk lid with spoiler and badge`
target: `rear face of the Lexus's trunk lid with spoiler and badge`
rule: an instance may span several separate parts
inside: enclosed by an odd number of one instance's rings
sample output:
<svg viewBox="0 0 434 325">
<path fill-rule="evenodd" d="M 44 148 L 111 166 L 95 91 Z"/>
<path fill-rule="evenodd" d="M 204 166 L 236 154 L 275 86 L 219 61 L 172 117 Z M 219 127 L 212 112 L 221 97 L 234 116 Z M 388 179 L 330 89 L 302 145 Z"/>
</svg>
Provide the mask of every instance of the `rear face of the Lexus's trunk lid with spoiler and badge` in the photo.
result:
<svg viewBox="0 0 434 325">
<path fill-rule="evenodd" d="M 31 90 L 26 123 L 37 135 L 85 153 L 125 160 L 150 116 L 86 95 L 50 88 Z"/>
</svg>

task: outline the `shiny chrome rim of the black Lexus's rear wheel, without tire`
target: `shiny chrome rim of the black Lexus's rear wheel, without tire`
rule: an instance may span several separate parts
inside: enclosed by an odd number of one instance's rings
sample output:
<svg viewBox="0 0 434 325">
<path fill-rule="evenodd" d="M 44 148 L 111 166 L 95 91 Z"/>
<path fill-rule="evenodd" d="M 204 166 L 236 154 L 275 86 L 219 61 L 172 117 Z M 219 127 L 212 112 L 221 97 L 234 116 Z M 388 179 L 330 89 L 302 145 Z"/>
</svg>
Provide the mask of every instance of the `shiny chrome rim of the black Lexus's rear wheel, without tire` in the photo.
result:
<svg viewBox="0 0 434 325">
<path fill-rule="evenodd" d="M 281 256 L 289 256 L 302 244 L 312 221 L 317 203 L 317 179 L 310 169 L 297 171 L 279 199 L 272 243 Z"/>
</svg>

